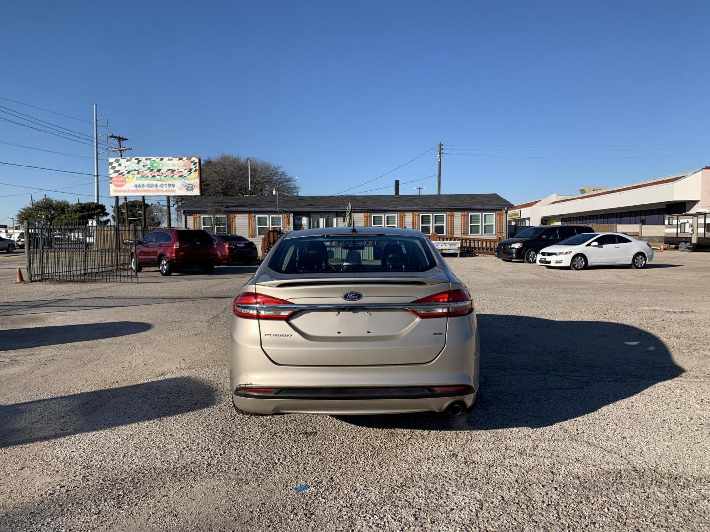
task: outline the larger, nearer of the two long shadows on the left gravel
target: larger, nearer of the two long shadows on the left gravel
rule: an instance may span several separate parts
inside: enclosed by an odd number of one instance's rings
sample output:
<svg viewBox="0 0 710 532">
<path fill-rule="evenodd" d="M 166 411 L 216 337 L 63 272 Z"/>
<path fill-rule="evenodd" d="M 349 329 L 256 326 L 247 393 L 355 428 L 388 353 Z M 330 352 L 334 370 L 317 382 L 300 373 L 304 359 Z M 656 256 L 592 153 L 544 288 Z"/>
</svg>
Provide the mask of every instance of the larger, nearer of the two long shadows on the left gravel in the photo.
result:
<svg viewBox="0 0 710 532">
<path fill-rule="evenodd" d="M 0 448 L 176 416 L 215 401 L 217 394 L 206 382 L 175 377 L 0 405 Z"/>
</svg>

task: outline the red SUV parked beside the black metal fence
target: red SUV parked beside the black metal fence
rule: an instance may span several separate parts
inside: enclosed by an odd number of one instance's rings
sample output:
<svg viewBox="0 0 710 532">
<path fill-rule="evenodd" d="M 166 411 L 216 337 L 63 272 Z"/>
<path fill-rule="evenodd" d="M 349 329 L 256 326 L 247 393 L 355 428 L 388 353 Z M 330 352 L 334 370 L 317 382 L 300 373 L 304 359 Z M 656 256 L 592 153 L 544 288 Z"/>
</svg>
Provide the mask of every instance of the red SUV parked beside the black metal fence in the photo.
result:
<svg viewBox="0 0 710 532">
<path fill-rule="evenodd" d="M 217 248 L 202 229 L 158 229 L 136 242 L 136 255 L 131 257 L 134 272 L 140 272 L 143 266 L 157 266 L 160 275 L 181 268 L 212 273 L 216 263 Z"/>
</svg>

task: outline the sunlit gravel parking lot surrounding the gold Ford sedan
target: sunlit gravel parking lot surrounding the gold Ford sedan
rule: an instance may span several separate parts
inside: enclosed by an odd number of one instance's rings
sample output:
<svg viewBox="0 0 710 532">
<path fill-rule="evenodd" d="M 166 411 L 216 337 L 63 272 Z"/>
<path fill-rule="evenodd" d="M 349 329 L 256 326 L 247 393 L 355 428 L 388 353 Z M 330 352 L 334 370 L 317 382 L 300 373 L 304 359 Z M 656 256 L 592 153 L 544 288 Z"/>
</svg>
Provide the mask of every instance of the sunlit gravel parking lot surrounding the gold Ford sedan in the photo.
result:
<svg viewBox="0 0 710 532">
<path fill-rule="evenodd" d="M 708 530 L 710 254 L 450 264 L 476 409 L 240 417 L 226 345 L 255 267 L 16 285 L 3 257 L 0 530 Z"/>
</svg>

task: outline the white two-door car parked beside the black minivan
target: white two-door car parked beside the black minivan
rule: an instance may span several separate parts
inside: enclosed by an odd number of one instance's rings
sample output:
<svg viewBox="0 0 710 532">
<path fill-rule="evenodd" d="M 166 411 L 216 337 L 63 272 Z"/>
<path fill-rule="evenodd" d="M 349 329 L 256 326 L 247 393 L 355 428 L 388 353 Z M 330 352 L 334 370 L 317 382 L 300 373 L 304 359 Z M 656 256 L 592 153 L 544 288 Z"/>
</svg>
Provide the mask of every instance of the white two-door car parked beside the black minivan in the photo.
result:
<svg viewBox="0 0 710 532">
<path fill-rule="evenodd" d="M 648 242 L 623 233 L 582 233 L 537 254 L 537 264 L 541 266 L 571 270 L 615 264 L 640 269 L 651 260 L 653 249 Z"/>
</svg>

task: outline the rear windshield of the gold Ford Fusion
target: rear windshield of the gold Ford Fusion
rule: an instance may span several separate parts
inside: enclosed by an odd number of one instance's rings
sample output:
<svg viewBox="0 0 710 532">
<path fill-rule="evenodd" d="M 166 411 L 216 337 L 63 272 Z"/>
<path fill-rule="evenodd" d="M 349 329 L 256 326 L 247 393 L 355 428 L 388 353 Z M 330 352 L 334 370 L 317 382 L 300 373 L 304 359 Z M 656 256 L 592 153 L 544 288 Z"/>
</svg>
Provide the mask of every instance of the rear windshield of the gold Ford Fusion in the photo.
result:
<svg viewBox="0 0 710 532">
<path fill-rule="evenodd" d="M 269 253 L 281 273 L 424 272 L 436 265 L 424 238 L 337 235 L 288 238 Z"/>
</svg>

